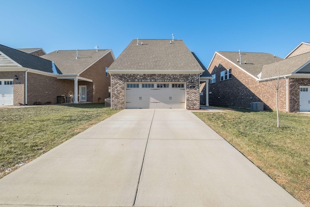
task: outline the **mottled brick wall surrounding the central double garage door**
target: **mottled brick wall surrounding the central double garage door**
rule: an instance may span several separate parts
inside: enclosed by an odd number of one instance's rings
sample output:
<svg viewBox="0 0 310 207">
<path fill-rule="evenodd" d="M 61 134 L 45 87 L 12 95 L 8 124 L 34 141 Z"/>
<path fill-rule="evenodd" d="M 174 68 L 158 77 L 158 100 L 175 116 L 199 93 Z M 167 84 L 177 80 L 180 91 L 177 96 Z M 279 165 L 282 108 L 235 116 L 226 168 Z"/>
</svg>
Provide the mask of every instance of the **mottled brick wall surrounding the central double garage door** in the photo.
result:
<svg viewBox="0 0 310 207">
<path fill-rule="evenodd" d="M 199 109 L 199 74 L 112 74 L 111 108 L 125 108 L 125 82 L 186 82 L 186 109 Z"/>
</svg>

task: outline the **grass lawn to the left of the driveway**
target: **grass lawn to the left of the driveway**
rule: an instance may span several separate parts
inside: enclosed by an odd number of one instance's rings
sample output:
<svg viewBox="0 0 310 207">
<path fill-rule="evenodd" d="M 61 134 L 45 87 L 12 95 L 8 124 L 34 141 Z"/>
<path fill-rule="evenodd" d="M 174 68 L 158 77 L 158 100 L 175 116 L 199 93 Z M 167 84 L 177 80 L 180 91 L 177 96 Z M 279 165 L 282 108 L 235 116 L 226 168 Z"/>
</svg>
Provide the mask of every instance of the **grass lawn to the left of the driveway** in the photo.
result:
<svg viewBox="0 0 310 207">
<path fill-rule="evenodd" d="M 118 111 L 95 103 L 0 108 L 0 178 Z"/>
</svg>

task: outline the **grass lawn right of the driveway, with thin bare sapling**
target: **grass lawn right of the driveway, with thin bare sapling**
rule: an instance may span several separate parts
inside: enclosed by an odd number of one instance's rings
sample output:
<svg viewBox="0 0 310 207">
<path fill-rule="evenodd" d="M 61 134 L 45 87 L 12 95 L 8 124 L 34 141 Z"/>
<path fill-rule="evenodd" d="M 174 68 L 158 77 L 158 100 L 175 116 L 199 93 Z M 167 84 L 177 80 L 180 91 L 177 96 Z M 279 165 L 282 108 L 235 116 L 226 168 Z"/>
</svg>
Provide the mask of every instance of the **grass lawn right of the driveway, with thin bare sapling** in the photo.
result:
<svg viewBox="0 0 310 207">
<path fill-rule="evenodd" d="M 243 153 L 297 200 L 310 207 L 310 114 L 195 112 L 202 121 Z"/>
</svg>

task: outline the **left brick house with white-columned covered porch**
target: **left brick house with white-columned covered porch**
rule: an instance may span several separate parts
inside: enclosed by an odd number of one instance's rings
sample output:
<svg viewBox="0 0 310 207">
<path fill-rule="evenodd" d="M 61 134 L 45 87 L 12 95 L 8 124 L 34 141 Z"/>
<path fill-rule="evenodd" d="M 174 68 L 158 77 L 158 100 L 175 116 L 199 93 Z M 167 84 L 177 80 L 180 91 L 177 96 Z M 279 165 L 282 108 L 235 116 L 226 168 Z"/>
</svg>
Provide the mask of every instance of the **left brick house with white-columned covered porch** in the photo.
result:
<svg viewBox="0 0 310 207">
<path fill-rule="evenodd" d="M 110 49 L 37 57 L 0 45 L 0 105 L 104 102 L 110 85 L 106 68 L 114 60 Z"/>
</svg>

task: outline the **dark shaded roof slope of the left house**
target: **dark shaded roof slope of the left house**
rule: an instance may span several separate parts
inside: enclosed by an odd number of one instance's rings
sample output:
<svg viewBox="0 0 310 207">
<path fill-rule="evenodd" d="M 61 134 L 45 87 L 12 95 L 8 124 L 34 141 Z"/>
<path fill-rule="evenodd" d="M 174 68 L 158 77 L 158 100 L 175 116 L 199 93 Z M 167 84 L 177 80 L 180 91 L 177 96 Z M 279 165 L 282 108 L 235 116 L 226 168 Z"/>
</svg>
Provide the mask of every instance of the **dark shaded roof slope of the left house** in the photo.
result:
<svg viewBox="0 0 310 207">
<path fill-rule="evenodd" d="M 19 51 L 17 49 L 6 47 L 4 45 L 0 45 L 0 51 L 25 68 L 53 73 L 52 62 L 49 60 L 36 57 L 31 54 Z M 62 72 L 57 68 L 57 66 L 56 70 L 58 74 L 62 74 Z"/>
</svg>

